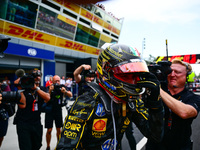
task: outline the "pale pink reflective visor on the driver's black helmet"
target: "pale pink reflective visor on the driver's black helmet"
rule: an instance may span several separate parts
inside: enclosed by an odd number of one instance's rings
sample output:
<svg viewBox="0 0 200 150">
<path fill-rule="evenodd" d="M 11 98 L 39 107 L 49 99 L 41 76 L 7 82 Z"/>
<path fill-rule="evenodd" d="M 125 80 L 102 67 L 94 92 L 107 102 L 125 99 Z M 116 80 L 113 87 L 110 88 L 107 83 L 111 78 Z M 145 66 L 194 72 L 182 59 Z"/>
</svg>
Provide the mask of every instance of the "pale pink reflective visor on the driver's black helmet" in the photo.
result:
<svg viewBox="0 0 200 150">
<path fill-rule="evenodd" d="M 149 72 L 146 62 L 141 59 L 132 59 L 129 63 L 118 64 L 113 71 L 114 74 Z"/>
</svg>

